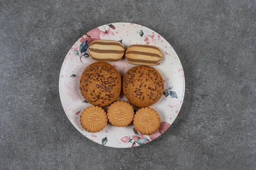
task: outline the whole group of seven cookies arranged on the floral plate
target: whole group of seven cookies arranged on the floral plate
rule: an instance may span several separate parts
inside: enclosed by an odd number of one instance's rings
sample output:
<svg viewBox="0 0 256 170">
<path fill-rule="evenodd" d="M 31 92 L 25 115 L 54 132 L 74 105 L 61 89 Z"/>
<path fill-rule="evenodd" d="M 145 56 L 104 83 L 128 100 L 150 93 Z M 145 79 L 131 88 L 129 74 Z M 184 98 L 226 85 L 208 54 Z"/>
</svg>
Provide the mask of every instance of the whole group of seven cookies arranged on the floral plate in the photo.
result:
<svg viewBox="0 0 256 170">
<path fill-rule="evenodd" d="M 103 130 L 108 121 L 116 127 L 128 126 L 133 121 L 140 133 L 154 133 L 160 127 L 160 116 L 148 107 L 160 99 L 164 85 L 160 73 L 148 65 L 156 65 L 163 59 L 159 48 L 131 45 L 125 51 L 120 42 L 95 40 L 89 47 L 89 55 L 100 62 L 89 65 L 81 75 L 81 94 L 93 105 L 81 113 L 82 127 L 95 133 Z M 139 66 L 129 69 L 122 80 L 116 68 L 106 62 L 117 61 L 124 55 L 129 63 Z M 121 89 L 128 101 L 140 108 L 135 115 L 130 103 L 116 101 Z M 106 113 L 101 107 L 108 105 Z"/>
</svg>

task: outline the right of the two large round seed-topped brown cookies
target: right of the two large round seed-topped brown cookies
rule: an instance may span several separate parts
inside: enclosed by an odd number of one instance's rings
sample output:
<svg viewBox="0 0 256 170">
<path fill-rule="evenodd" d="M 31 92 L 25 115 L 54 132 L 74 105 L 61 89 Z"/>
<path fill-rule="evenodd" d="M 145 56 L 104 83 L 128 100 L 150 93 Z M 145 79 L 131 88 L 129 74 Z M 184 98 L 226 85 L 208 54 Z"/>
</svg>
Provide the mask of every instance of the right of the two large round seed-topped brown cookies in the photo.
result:
<svg viewBox="0 0 256 170">
<path fill-rule="evenodd" d="M 129 69 L 122 83 L 122 90 L 129 102 L 138 108 L 156 103 L 163 95 L 163 78 L 149 66 L 136 66 Z"/>
</svg>

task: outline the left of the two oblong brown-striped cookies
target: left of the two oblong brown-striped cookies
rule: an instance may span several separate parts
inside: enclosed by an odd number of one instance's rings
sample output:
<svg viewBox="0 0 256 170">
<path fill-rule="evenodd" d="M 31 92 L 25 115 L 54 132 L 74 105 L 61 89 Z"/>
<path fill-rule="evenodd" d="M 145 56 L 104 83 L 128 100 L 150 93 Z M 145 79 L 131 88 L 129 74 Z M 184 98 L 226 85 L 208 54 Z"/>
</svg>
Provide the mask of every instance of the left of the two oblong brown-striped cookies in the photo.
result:
<svg viewBox="0 0 256 170">
<path fill-rule="evenodd" d="M 89 56 L 96 61 L 118 61 L 124 55 L 125 48 L 119 41 L 94 40 L 89 46 Z"/>
</svg>

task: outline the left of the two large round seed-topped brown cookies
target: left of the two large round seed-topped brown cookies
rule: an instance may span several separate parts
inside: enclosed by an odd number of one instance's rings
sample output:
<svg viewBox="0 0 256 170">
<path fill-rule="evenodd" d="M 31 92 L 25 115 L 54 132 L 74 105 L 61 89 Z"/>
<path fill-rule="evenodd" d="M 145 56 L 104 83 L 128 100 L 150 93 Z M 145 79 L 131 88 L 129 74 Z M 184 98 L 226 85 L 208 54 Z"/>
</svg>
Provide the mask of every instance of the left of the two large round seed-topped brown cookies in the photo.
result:
<svg viewBox="0 0 256 170">
<path fill-rule="evenodd" d="M 94 62 L 84 69 L 80 91 L 92 105 L 107 106 L 120 95 L 122 80 L 119 72 L 106 62 Z"/>
</svg>

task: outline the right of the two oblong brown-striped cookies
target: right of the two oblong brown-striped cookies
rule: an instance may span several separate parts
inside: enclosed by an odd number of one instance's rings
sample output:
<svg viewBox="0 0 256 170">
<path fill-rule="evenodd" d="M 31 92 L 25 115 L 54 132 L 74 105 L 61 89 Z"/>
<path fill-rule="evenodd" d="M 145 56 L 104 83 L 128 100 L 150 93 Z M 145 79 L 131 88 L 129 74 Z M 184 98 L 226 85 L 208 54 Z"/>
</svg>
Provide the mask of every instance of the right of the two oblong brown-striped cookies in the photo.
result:
<svg viewBox="0 0 256 170">
<path fill-rule="evenodd" d="M 157 65 L 163 59 L 163 54 L 155 46 L 131 45 L 125 51 L 125 59 L 134 65 Z"/>
</svg>

